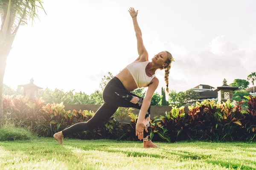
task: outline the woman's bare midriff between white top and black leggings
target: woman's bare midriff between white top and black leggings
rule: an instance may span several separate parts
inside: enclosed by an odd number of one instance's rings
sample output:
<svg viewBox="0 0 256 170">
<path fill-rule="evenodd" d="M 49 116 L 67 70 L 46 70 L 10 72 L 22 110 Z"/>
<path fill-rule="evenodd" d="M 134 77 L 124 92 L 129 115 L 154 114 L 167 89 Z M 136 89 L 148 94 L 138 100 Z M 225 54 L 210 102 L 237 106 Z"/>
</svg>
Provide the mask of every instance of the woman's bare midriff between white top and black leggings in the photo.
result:
<svg viewBox="0 0 256 170">
<path fill-rule="evenodd" d="M 132 77 L 130 71 L 127 68 L 124 68 L 122 71 L 120 71 L 119 74 L 116 75 L 116 77 L 122 82 L 126 90 L 133 91 L 138 88 L 136 82 L 134 81 L 134 78 Z"/>
</svg>

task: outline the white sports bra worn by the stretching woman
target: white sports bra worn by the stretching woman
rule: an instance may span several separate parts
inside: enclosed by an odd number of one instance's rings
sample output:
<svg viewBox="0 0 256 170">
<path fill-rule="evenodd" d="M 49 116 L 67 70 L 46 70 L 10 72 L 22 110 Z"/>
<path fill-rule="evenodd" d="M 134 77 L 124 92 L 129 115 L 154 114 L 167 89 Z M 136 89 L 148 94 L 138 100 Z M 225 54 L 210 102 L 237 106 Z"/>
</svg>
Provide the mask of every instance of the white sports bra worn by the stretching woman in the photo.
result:
<svg viewBox="0 0 256 170">
<path fill-rule="evenodd" d="M 138 88 L 145 87 L 149 85 L 151 80 L 155 77 L 155 74 L 151 77 L 148 77 L 145 71 L 146 66 L 150 61 L 145 62 L 133 62 L 126 66 L 126 68 L 130 71 L 132 77 Z"/>
</svg>

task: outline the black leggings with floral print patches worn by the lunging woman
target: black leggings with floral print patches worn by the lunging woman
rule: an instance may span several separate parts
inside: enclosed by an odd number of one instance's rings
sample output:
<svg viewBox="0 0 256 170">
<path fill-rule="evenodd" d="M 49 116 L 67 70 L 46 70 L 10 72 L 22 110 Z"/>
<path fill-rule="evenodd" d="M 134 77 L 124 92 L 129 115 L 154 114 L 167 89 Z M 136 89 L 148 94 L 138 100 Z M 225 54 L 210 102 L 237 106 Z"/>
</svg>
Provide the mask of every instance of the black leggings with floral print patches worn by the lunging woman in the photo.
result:
<svg viewBox="0 0 256 170">
<path fill-rule="evenodd" d="M 133 97 L 138 97 L 140 99 L 139 102 L 136 104 L 130 102 Z M 68 134 L 84 130 L 93 130 L 104 122 L 107 122 L 108 119 L 116 112 L 118 107 L 140 109 L 143 102 L 143 98 L 127 91 L 117 77 L 113 77 L 108 82 L 103 90 L 102 98 L 104 100 L 103 105 L 98 109 L 98 111 L 96 111 L 90 120 L 87 122 L 76 123 L 75 125 L 62 130 L 63 135 L 66 136 Z M 145 115 L 144 123 L 148 132 L 144 130 L 143 141 L 148 141 L 150 140 L 150 107 Z"/>
</svg>

